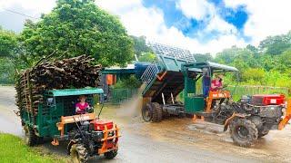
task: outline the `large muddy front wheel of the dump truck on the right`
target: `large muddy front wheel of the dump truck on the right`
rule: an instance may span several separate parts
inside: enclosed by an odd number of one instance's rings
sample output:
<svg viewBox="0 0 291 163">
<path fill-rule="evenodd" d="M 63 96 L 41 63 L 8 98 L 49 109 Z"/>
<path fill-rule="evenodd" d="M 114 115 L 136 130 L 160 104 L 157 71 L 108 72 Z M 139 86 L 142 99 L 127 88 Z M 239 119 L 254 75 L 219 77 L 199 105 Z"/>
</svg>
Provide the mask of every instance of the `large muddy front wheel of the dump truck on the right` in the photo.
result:
<svg viewBox="0 0 291 163">
<path fill-rule="evenodd" d="M 258 131 L 256 125 L 251 120 L 235 119 L 230 123 L 230 135 L 235 144 L 248 148 L 255 144 Z"/>
</svg>

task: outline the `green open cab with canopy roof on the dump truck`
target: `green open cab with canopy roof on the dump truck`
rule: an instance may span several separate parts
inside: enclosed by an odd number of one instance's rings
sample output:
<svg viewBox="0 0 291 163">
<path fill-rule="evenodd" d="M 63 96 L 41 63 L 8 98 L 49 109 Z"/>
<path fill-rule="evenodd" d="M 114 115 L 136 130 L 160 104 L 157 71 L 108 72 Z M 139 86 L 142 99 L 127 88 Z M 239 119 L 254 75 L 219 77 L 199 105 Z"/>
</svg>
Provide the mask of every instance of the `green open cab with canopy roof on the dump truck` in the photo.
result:
<svg viewBox="0 0 291 163">
<path fill-rule="evenodd" d="M 216 73 L 238 72 L 235 67 L 216 62 L 195 62 L 182 65 L 185 78 L 185 109 L 186 113 L 206 115 L 211 114 L 213 102 L 230 98 L 226 90 L 211 91 L 211 80 Z M 203 94 L 197 94 L 196 85 L 201 80 Z M 209 81 L 206 81 L 209 80 Z M 209 84 L 210 83 L 210 84 Z"/>
</svg>

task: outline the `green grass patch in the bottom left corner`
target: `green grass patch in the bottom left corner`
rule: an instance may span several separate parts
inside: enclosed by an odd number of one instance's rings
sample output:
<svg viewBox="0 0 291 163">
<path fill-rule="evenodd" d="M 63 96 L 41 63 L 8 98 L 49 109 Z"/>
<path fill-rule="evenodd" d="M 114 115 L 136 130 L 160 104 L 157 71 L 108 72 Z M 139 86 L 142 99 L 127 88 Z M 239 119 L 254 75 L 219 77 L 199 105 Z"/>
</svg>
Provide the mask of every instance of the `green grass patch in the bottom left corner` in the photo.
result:
<svg viewBox="0 0 291 163">
<path fill-rule="evenodd" d="M 41 149 L 26 146 L 23 139 L 11 134 L 0 133 L 0 162 L 51 163 L 65 162 L 65 158 L 45 154 L 41 152 Z"/>
</svg>

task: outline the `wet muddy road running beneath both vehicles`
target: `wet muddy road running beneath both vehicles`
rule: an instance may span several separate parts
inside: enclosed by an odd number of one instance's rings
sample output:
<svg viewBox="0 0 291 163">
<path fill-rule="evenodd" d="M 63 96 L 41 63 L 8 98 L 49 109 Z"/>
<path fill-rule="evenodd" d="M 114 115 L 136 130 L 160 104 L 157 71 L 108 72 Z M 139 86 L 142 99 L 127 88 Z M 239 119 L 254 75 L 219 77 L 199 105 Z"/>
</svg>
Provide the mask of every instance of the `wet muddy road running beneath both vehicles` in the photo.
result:
<svg viewBox="0 0 291 163">
<path fill-rule="evenodd" d="M 15 118 L 13 87 L 0 87 L 0 131 L 22 136 Z M 143 122 L 138 100 L 122 106 L 107 106 L 102 118 L 114 120 L 122 130 L 118 155 L 109 162 L 290 162 L 287 144 L 291 129 L 271 131 L 252 149 L 235 146 L 228 132 L 210 123 L 192 123 L 190 119 L 168 118 L 160 123 Z M 5 125 L 3 125 L 5 124 Z M 65 156 L 65 145 L 42 148 Z M 105 158 L 91 159 L 105 161 Z"/>
</svg>

